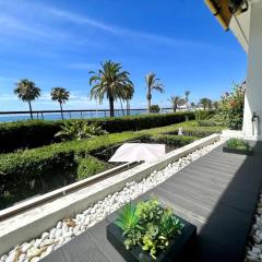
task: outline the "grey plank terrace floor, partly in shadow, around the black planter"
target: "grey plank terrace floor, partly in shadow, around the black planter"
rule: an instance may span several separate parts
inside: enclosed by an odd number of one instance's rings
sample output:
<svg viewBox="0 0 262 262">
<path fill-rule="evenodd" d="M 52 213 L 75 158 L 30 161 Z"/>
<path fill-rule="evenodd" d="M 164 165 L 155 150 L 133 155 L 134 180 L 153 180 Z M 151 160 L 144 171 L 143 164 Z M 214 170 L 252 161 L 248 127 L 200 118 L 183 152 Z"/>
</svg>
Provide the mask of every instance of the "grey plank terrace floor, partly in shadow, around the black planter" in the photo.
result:
<svg viewBox="0 0 262 262">
<path fill-rule="evenodd" d="M 198 227 L 191 261 L 243 261 L 262 183 L 262 143 L 254 156 L 228 154 L 218 146 L 138 200 L 154 195 Z M 43 262 L 124 261 L 106 238 L 116 213 L 44 258 Z"/>
</svg>

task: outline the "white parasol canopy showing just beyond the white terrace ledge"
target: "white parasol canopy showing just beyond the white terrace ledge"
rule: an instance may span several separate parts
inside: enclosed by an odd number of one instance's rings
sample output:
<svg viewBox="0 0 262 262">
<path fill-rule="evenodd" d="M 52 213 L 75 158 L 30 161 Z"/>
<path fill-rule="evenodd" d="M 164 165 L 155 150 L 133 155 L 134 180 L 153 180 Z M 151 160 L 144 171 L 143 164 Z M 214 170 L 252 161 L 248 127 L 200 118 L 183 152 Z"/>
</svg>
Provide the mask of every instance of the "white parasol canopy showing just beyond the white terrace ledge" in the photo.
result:
<svg viewBox="0 0 262 262">
<path fill-rule="evenodd" d="M 165 144 L 124 143 L 108 162 L 153 162 L 165 154 Z"/>
</svg>

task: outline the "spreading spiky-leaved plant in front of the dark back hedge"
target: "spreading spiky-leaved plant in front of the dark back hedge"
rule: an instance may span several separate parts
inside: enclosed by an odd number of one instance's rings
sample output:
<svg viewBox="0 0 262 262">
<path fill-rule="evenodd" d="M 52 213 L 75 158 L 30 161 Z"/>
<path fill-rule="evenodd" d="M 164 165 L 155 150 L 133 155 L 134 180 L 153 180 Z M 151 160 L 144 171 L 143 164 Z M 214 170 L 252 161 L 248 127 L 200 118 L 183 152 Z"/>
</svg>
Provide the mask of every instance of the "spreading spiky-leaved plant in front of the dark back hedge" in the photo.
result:
<svg viewBox="0 0 262 262">
<path fill-rule="evenodd" d="M 96 123 L 87 123 L 83 121 L 64 122 L 55 136 L 62 140 L 83 140 L 93 136 L 106 134 L 107 132 Z"/>
</svg>

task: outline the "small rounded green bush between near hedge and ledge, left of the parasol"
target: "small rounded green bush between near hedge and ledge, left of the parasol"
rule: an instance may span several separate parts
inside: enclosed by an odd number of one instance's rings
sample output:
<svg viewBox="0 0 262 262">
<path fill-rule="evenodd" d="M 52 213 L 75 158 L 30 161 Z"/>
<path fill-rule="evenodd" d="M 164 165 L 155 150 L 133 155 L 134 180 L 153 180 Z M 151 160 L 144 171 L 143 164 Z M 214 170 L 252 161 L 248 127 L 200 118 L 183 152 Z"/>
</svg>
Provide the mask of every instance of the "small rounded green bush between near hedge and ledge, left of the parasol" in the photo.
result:
<svg viewBox="0 0 262 262">
<path fill-rule="evenodd" d="M 98 160 L 95 157 L 87 156 L 82 158 L 78 166 L 78 179 L 84 179 L 91 176 L 94 176 L 98 172 L 103 172 L 107 170 L 109 165 L 106 163 Z"/>
</svg>

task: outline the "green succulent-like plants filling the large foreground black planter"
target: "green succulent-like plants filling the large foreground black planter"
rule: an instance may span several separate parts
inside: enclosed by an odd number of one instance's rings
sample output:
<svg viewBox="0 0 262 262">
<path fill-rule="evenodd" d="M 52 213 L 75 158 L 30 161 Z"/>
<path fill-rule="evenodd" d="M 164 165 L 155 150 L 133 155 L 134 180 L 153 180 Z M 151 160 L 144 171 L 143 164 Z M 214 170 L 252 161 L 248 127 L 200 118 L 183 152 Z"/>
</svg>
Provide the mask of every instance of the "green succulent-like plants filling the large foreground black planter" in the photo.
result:
<svg viewBox="0 0 262 262">
<path fill-rule="evenodd" d="M 171 209 L 162 206 L 157 200 L 128 204 L 116 221 L 116 225 L 123 230 L 124 246 L 140 246 L 153 259 L 165 250 L 175 236 L 181 234 L 183 225 Z"/>
</svg>

